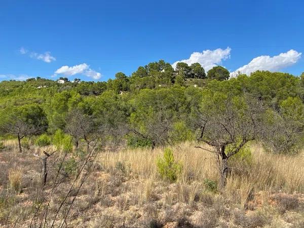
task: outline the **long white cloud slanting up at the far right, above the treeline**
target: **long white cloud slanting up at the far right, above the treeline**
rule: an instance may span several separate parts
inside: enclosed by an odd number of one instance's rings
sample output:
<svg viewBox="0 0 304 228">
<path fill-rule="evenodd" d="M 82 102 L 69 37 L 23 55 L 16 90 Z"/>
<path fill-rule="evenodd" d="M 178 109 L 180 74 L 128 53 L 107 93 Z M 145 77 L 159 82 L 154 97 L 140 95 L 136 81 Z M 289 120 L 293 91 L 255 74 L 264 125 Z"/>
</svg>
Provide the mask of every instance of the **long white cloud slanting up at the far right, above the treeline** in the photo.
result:
<svg viewBox="0 0 304 228">
<path fill-rule="evenodd" d="M 300 59 L 301 54 L 302 53 L 291 49 L 288 52 L 281 53 L 273 57 L 270 57 L 269 55 L 258 56 L 252 59 L 247 65 L 244 65 L 230 73 L 230 75 L 232 77 L 237 76 L 239 73 L 250 75 L 251 72 L 256 70 L 277 71 L 295 64 Z"/>
</svg>

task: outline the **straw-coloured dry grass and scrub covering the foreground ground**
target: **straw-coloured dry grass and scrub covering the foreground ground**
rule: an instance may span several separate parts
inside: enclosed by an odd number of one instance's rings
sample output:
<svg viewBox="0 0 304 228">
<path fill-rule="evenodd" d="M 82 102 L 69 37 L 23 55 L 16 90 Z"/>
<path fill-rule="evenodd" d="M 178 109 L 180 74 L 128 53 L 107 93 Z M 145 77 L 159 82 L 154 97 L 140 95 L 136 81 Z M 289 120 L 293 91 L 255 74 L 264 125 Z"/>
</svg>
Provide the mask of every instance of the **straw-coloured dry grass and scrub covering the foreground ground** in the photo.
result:
<svg viewBox="0 0 304 228">
<path fill-rule="evenodd" d="M 6 152 L 0 154 L 3 161 L 0 165 L 14 168 L 4 169 L 8 180 L 3 183 L 20 193 L 24 176 L 39 173 L 41 164 L 29 153 L 12 154 L 11 150 L 18 151 L 14 140 L 4 143 Z M 182 164 L 176 182 L 163 180 L 158 173 L 156 159 L 163 155 L 163 148 L 100 153 L 73 204 L 68 224 L 73 227 L 301 227 L 304 224 L 299 219 L 304 213 L 303 154 L 272 155 L 253 145 L 249 161 L 230 161 L 231 173 L 225 192 L 218 193 L 206 184 L 218 182 L 213 154 L 194 146 L 184 143 L 172 147 L 175 160 Z M 31 151 L 43 149 L 46 148 L 31 146 Z M 22 163 L 23 169 L 10 165 L 12 160 Z M 60 157 L 50 160 L 53 167 L 45 193 L 51 189 L 52 176 L 60 161 Z M 80 186 L 82 177 L 75 181 L 75 188 Z M 73 178 L 62 176 L 62 184 L 51 200 L 50 214 L 56 212 L 72 181 Z M 0 187 L 3 191 L 6 188 L 4 184 Z M 11 195 L 15 201 L 4 200 L 2 204 L 0 200 L 0 215 L 1 207 L 8 208 L 3 215 L 9 214 L 7 225 L 18 217 L 16 213 L 20 210 L 16 208 L 29 205 L 26 210 L 30 211 L 34 191 L 24 187 L 22 194 Z M 63 208 L 67 207 L 64 204 Z M 58 218 L 62 219 L 63 214 L 59 213 Z M 20 226 L 27 226 L 29 218 L 28 214 L 22 216 L 25 222 L 20 222 Z"/>
</svg>

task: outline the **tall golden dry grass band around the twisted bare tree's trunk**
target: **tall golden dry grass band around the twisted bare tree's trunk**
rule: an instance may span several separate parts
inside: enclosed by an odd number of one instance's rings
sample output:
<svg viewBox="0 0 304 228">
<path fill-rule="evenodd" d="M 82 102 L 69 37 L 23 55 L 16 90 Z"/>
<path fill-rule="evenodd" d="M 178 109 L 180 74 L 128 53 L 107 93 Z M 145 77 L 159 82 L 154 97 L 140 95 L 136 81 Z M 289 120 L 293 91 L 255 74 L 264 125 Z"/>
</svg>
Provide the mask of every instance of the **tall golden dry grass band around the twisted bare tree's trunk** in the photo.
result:
<svg viewBox="0 0 304 228">
<path fill-rule="evenodd" d="M 179 183 L 200 182 L 204 179 L 218 181 L 218 168 L 214 155 L 193 143 L 184 143 L 173 147 L 174 156 L 182 163 L 182 174 Z M 206 147 L 210 149 L 209 147 Z M 262 146 L 253 145 L 250 148 L 252 159 L 250 163 L 231 161 L 231 175 L 227 179 L 227 192 L 248 195 L 252 189 L 258 191 L 274 189 L 285 193 L 304 193 L 304 154 L 274 155 L 266 153 Z M 117 163 L 129 167 L 133 175 L 139 179 L 159 179 L 156 158 L 162 156 L 163 149 L 125 149 L 119 152 L 107 151 L 101 154 L 100 162 L 105 169 L 111 170 Z M 244 197 L 245 197 L 244 196 Z"/>
</svg>

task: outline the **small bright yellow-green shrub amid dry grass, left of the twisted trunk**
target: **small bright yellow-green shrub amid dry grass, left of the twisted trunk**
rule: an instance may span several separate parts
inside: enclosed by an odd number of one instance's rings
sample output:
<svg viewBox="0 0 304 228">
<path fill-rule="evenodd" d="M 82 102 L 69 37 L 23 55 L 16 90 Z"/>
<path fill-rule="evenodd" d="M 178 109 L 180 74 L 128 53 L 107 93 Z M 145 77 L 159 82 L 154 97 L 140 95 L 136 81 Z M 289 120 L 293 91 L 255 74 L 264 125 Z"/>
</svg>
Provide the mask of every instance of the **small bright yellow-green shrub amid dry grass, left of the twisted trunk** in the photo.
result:
<svg viewBox="0 0 304 228">
<path fill-rule="evenodd" d="M 156 165 L 162 178 L 175 181 L 182 170 L 182 164 L 174 161 L 173 151 L 170 148 L 164 150 L 164 157 L 157 158 Z"/>
</svg>

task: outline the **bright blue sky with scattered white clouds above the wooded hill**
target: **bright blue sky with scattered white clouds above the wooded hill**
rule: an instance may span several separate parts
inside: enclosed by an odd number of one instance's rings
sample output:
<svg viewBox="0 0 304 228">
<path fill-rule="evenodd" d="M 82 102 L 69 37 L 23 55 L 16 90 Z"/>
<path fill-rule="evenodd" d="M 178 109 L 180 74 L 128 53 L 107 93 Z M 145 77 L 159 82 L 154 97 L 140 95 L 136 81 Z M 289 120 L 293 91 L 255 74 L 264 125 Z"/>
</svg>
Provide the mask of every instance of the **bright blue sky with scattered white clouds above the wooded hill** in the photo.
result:
<svg viewBox="0 0 304 228">
<path fill-rule="evenodd" d="M 278 0 L 2 0 L 0 80 L 105 81 L 159 59 L 299 75 L 303 9 Z"/>
</svg>

